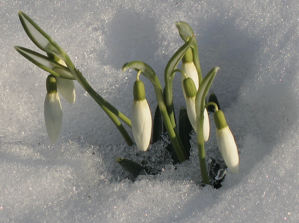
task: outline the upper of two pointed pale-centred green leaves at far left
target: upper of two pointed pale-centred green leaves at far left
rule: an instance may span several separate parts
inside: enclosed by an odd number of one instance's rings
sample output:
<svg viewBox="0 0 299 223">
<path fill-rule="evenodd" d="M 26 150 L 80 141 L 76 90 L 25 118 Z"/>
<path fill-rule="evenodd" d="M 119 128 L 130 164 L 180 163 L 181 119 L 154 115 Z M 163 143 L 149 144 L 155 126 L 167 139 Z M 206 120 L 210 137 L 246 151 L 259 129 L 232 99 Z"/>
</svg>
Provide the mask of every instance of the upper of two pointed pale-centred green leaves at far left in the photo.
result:
<svg viewBox="0 0 299 223">
<path fill-rule="evenodd" d="M 45 33 L 28 15 L 19 11 L 21 24 L 31 41 L 41 50 L 64 58 L 64 52 L 52 38 Z"/>
</svg>

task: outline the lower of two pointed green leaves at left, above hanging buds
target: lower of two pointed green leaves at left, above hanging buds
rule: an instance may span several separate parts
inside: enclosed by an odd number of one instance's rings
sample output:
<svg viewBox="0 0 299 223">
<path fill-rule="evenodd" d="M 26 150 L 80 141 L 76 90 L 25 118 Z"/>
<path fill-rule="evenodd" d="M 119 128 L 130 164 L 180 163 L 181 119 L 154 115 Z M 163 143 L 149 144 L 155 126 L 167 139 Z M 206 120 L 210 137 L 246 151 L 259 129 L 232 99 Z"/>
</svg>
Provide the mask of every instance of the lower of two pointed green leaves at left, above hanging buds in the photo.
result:
<svg viewBox="0 0 299 223">
<path fill-rule="evenodd" d="M 21 46 L 14 46 L 14 48 L 36 66 L 55 75 L 56 77 L 75 80 L 74 76 L 71 72 L 69 72 L 69 69 L 60 63 L 57 63 L 55 60 Z"/>
</svg>

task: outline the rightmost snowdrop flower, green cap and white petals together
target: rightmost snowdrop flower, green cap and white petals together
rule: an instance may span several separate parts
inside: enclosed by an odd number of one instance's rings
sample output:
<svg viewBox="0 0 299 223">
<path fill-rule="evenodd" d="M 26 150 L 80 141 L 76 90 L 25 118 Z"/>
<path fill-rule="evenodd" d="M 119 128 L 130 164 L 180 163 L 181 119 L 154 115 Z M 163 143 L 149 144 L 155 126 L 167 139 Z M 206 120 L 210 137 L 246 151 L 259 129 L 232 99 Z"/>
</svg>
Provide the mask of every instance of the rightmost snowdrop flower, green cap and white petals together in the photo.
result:
<svg viewBox="0 0 299 223">
<path fill-rule="evenodd" d="M 214 113 L 216 125 L 216 139 L 218 148 L 227 167 L 233 172 L 239 172 L 239 155 L 234 136 L 228 127 L 224 114 L 221 110 Z"/>
</svg>

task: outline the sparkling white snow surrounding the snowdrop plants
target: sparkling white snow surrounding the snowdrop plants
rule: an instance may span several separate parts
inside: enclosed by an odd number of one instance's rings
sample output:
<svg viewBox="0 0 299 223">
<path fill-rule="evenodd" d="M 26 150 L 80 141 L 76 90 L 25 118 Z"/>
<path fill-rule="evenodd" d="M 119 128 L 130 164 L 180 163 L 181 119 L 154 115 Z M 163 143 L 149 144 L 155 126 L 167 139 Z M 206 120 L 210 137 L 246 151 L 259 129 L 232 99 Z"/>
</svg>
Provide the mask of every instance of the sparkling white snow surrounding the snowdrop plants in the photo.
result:
<svg viewBox="0 0 299 223">
<path fill-rule="evenodd" d="M 297 0 L 0 1 L 1 222 L 299 222 L 298 5 Z M 52 145 L 43 123 L 47 73 L 13 49 L 40 52 L 26 36 L 18 10 L 127 115 L 136 73 L 121 72 L 122 65 L 142 60 L 163 80 L 164 66 L 182 44 L 175 22 L 188 22 L 197 33 L 203 74 L 221 68 L 212 90 L 236 138 L 240 173 L 228 171 L 220 189 L 201 188 L 194 137 L 190 161 L 176 168 L 162 143 L 138 152 L 78 83 L 76 103 L 62 99 L 61 138 Z M 153 112 L 153 87 L 144 83 Z M 175 86 L 178 109 L 184 103 L 179 78 Z M 212 132 L 207 154 L 215 147 Z M 116 156 L 146 158 L 163 170 L 132 181 Z"/>
</svg>

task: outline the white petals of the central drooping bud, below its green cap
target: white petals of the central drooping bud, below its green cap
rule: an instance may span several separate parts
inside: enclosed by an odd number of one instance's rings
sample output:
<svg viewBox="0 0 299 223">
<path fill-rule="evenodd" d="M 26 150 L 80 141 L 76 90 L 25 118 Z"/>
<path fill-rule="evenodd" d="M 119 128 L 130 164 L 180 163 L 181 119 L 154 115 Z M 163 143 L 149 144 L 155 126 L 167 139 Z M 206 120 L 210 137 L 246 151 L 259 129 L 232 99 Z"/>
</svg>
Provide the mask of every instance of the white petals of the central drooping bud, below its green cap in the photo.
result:
<svg viewBox="0 0 299 223">
<path fill-rule="evenodd" d="M 152 116 L 146 99 L 133 101 L 131 121 L 136 145 L 141 151 L 146 151 L 152 131 Z"/>
</svg>

